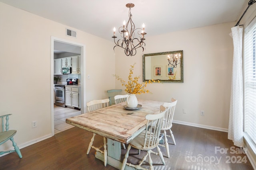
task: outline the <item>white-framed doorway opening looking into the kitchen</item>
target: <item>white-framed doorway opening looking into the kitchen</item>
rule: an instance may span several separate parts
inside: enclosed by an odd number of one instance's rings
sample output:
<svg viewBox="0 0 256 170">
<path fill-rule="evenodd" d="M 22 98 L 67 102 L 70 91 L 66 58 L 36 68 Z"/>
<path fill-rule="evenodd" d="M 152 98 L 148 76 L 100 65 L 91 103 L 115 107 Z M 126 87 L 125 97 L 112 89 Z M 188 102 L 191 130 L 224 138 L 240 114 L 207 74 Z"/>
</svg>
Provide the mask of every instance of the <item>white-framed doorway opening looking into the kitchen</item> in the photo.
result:
<svg viewBox="0 0 256 170">
<path fill-rule="evenodd" d="M 73 60 L 72 60 L 73 59 Z M 66 65 L 64 60 L 66 60 Z M 70 129 L 73 127 L 70 124 L 66 123 L 66 118 L 79 115 L 83 112 L 83 101 L 85 100 L 84 87 L 85 79 L 83 79 L 83 70 L 85 66 L 85 45 L 68 41 L 66 39 L 59 39 L 57 37 L 52 37 L 52 50 L 51 50 L 51 84 L 52 84 L 52 102 L 51 102 L 51 117 L 52 117 L 52 136 L 61 131 Z M 58 64 L 56 64 L 56 61 Z M 68 63 L 68 62 L 71 63 Z M 69 67 L 70 69 L 74 68 L 74 71 L 70 74 L 63 74 L 62 68 Z M 67 80 L 70 78 L 77 80 L 77 84 L 69 85 Z M 57 79 L 57 82 L 54 80 Z M 79 88 L 79 98 L 74 99 L 74 105 L 70 105 L 65 101 L 63 105 L 56 106 L 56 97 L 55 97 L 55 85 L 69 85 L 68 87 Z M 64 86 L 66 87 L 66 86 Z M 65 94 L 68 94 L 65 96 Z M 73 96 L 70 95 L 70 92 L 64 90 L 63 92 L 64 99 L 70 102 L 70 99 L 73 100 Z M 58 101 L 59 103 L 59 101 Z"/>
</svg>

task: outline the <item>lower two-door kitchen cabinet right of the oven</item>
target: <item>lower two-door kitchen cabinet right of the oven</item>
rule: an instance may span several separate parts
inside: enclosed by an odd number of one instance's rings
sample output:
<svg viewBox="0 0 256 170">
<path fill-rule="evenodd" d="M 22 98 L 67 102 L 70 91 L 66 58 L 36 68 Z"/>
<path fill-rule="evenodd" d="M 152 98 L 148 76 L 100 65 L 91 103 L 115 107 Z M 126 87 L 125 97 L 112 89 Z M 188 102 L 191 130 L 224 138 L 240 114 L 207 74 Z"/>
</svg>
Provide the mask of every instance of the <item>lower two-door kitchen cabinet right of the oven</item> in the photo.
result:
<svg viewBox="0 0 256 170">
<path fill-rule="evenodd" d="M 81 107 L 81 99 L 80 99 L 80 88 L 79 87 L 65 87 L 65 105 L 70 107 L 77 107 L 80 109 Z"/>
</svg>

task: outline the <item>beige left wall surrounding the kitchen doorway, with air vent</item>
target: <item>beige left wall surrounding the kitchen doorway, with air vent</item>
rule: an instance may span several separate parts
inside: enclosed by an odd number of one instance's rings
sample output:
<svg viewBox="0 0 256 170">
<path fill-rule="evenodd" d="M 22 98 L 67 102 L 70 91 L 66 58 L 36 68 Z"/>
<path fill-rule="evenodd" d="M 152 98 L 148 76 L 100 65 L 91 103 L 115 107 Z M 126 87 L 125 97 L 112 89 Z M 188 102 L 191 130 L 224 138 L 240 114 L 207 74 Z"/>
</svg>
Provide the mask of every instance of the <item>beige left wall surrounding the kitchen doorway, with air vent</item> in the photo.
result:
<svg viewBox="0 0 256 170">
<path fill-rule="evenodd" d="M 115 72 L 112 42 L 76 29 L 77 38 L 68 37 L 66 27 L 0 2 L 0 115 L 12 113 L 10 129 L 18 130 L 14 139 L 21 147 L 52 134 L 51 36 L 86 47 L 84 103 L 106 98 L 115 87 L 109 81 Z"/>
</svg>

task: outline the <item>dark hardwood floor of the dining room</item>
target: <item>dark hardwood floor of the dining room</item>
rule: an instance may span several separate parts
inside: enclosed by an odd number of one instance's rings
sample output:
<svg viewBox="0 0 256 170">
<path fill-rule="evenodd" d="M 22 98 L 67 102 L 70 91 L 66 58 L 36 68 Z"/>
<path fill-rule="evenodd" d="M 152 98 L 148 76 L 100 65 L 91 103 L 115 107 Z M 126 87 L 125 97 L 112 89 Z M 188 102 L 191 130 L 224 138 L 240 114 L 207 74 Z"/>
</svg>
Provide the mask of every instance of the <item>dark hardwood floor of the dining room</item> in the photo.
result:
<svg viewBox="0 0 256 170">
<path fill-rule="evenodd" d="M 169 140 L 170 158 L 166 150 L 160 147 L 166 165 L 152 154 L 155 170 L 253 170 L 246 154 L 234 147 L 227 139 L 227 133 L 186 125 L 173 124 L 172 131 L 176 145 Z M 94 157 L 94 150 L 86 155 L 92 133 L 73 127 L 56 134 L 54 137 L 21 149 L 23 158 L 16 152 L 0 157 L 1 170 L 116 170 Z M 94 144 L 102 143 L 102 137 L 96 135 Z M 224 150 L 227 150 L 226 153 Z M 236 150 L 235 150 L 236 149 Z M 122 149 L 122 158 L 126 150 Z M 235 153 L 233 153 L 235 152 Z M 136 163 L 142 158 L 137 150 L 130 151 L 128 162 Z M 232 163 L 233 162 L 233 163 Z M 240 163 L 239 163 L 240 162 Z M 148 159 L 143 165 L 149 168 Z"/>
</svg>

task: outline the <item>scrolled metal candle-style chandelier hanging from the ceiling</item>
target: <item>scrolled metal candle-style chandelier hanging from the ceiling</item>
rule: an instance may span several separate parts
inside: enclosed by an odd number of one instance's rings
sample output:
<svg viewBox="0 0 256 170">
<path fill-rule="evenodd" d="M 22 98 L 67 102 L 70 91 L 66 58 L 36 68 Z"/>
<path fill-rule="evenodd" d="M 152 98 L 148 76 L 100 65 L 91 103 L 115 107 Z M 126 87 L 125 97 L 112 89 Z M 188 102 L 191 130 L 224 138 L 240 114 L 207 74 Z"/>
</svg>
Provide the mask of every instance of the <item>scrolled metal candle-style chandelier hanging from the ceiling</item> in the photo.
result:
<svg viewBox="0 0 256 170">
<path fill-rule="evenodd" d="M 127 23 L 123 23 L 123 26 L 122 27 L 119 27 L 119 33 L 121 34 L 121 39 L 119 39 L 117 42 L 116 42 L 116 28 L 114 27 L 114 36 L 112 38 L 114 38 L 114 43 L 116 44 L 114 46 L 114 50 L 115 50 L 115 47 L 121 47 L 122 49 L 124 49 L 124 53 L 127 55 L 127 56 L 134 56 L 136 55 L 137 51 L 136 49 L 141 47 L 142 50 L 144 51 L 144 47 L 145 46 L 145 43 L 144 43 L 144 35 L 146 34 L 145 33 L 145 25 L 143 23 L 142 25 L 142 29 L 141 28 L 135 28 L 135 25 L 132 21 L 132 14 L 131 14 L 131 8 L 134 7 L 134 4 L 132 3 L 129 3 L 129 4 L 126 4 L 126 7 L 129 8 L 129 20 Z M 130 32 L 129 32 L 130 30 Z M 135 37 L 135 34 L 138 34 L 138 36 L 141 36 L 141 37 L 138 37 L 136 38 Z"/>
</svg>

